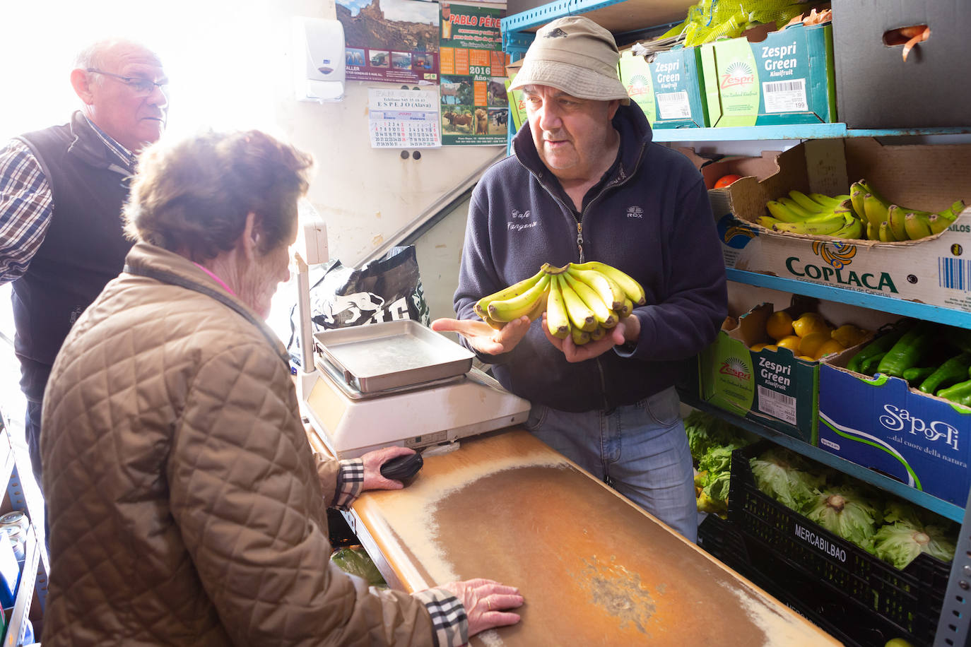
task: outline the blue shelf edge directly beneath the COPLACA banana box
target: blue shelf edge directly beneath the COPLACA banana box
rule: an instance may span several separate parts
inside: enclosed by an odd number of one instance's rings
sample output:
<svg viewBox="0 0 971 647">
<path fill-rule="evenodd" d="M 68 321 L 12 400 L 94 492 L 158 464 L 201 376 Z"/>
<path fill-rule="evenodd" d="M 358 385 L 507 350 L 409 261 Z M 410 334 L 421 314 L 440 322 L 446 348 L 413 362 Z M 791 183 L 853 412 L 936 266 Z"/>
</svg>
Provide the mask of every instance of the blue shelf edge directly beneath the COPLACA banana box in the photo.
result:
<svg viewBox="0 0 971 647">
<path fill-rule="evenodd" d="M 916 319 L 925 319 L 927 321 L 959 326 L 961 328 L 971 328 L 971 312 L 961 312 L 960 310 L 954 310 L 949 307 L 930 306 L 914 301 L 885 297 L 879 294 L 856 292 L 854 290 L 846 290 L 796 278 L 761 275 L 755 272 L 746 272 L 745 270 L 729 268 L 725 270 L 725 275 L 728 276 L 728 280 L 735 281 L 736 283 L 768 287 L 773 290 L 792 292 L 807 297 L 816 297 L 824 301 L 835 301 L 851 306 L 868 307 L 873 310 L 892 312 Z"/>
</svg>

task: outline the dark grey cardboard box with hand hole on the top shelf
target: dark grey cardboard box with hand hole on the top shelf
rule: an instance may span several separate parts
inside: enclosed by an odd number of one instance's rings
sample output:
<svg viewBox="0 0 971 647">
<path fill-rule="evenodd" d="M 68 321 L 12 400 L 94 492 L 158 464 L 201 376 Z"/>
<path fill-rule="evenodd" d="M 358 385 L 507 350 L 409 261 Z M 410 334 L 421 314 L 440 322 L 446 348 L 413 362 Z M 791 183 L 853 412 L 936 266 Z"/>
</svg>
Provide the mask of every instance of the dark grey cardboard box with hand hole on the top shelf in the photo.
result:
<svg viewBox="0 0 971 647">
<path fill-rule="evenodd" d="M 833 0 L 840 120 L 850 128 L 971 126 L 971 3 Z M 903 60 L 887 30 L 925 24 L 930 38 Z"/>
</svg>

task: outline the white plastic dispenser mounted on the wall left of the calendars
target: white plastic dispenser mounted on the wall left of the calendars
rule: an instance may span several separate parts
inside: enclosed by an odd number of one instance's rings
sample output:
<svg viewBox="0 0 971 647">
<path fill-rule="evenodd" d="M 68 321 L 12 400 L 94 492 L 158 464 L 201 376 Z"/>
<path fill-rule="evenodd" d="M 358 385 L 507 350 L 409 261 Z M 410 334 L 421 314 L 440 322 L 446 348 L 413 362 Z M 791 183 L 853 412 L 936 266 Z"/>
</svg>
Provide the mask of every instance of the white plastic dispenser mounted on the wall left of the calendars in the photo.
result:
<svg viewBox="0 0 971 647">
<path fill-rule="evenodd" d="M 339 20 L 293 19 L 297 99 L 340 101 L 344 98 L 344 25 Z"/>
</svg>

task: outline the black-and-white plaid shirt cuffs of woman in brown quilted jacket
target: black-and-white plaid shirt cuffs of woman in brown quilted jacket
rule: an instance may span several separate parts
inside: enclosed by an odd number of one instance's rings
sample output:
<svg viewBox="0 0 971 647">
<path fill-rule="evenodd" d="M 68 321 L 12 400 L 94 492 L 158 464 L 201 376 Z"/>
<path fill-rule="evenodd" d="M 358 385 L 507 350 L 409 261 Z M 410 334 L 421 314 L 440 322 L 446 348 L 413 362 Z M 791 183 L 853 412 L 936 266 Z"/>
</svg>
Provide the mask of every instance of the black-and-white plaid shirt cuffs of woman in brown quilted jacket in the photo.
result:
<svg viewBox="0 0 971 647">
<path fill-rule="evenodd" d="M 364 462 L 359 458 L 341 461 L 334 506 L 344 510 L 351 507 L 363 486 Z M 469 641 L 469 620 L 458 598 L 445 589 L 428 589 L 413 595 L 428 609 L 436 647 L 460 647 Z"/>
</svg>

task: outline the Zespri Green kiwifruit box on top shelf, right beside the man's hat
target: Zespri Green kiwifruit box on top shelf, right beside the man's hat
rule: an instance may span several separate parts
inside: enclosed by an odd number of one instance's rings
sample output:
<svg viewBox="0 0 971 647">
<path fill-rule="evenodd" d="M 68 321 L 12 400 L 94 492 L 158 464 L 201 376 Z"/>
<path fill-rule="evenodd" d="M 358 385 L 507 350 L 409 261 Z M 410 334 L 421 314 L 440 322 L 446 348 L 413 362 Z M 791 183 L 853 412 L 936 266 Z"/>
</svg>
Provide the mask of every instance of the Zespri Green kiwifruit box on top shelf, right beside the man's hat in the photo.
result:
<svg viewBox="0 0 971 647">
<path fill-rule="evenodd" d="M 628 49 L 620 56 L 619 73 L 627 94 L 641 107 L 653 128 L 708 126 L 700 49 L 661 51 L 651 63 Z"/>
</svg>

